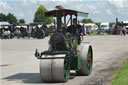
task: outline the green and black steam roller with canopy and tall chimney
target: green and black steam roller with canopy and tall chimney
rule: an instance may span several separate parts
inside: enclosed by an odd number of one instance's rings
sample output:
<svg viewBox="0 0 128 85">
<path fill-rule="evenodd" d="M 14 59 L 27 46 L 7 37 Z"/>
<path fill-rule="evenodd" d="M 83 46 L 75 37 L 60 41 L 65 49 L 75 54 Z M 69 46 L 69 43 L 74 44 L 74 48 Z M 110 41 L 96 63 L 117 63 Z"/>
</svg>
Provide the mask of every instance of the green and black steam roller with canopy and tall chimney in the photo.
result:
<svg viewBox="0 0 128 85">
<path fill-rule="evenodd" d="M 49 47 L 39 53 L 36 49 L 35 56 L 40 59 L 40 78 L 44 82 L 66 82 L 70 79 L 70 71 L 76 71 L 77 75 L 90 75 L 93 64 L 93 49 L 89 42 L 81 41 L 79 33 L 65 32 L 61 27 L 61 17 L 66 15 L 78 16 L 78 13 L 87 13 L 68 9 L 56 9 L 45 13 L 46 16 L 56 16 L 57 30 L 50 37 Z M 72 19 L 70 18 L 71 22 Z M 66 20 L 64 18 L 64 23 Z M 81 43 L 79 44 L 79 41 Z"/>
</svg>

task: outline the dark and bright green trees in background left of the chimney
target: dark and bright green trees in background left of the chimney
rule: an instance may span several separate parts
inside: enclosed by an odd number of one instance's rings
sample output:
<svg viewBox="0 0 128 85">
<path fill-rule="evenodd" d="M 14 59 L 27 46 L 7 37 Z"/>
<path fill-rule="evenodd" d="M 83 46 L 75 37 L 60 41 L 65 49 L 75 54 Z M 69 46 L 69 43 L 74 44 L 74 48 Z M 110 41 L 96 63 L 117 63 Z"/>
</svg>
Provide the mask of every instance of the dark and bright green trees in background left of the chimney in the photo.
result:
<svg viewBox="0 0 128 85">
<path fill-rule="evenodd" d="M 53 17 L 46 17 L 45 12 L 48 10 L 43 6 L 40 5 L 39 8 L 36 10 L 33 22 L 41 22 L 41 23 L 53 23 L 54 19 Z M 24 24 L 25 20 L 24 19 L 17 19 L 16 16 L 12 13 L 3 14 L 0 13 L 0 22 L 8 22 L 9 24 Z"/>
</svg>

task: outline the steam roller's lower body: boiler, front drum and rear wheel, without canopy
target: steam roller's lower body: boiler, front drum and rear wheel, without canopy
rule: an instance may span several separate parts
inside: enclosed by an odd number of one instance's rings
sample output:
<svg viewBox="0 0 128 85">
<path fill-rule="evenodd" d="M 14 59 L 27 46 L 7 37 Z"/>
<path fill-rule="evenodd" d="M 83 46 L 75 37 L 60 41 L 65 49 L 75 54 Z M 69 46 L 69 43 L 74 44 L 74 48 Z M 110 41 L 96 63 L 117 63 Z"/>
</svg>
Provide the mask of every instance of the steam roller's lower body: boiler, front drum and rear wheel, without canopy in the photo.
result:
<svg viewBox="0 0 128 85">
<path fill-rule="evenodd" d="M 67 81 L 70 78 L 70 70 L 75 70 L 77 75 L 89 75 L 93 63 L 92 47 L 89 43 L 82 42 L 79 49 L 76 50 L 77 45 L 75 36 L 70 36 L 66 40 L 61 33 L 55 33 L 50 38 L 50 46 L 47 51 L 38 53 L 36 50 L 35 55 L 40 59 L 41 80 L 46 82 Z"/>
</svg>

